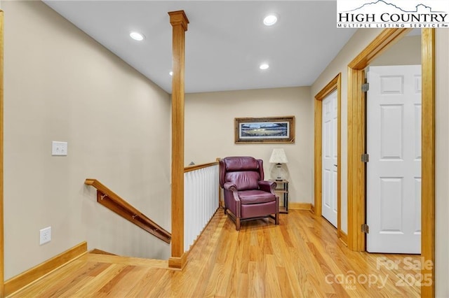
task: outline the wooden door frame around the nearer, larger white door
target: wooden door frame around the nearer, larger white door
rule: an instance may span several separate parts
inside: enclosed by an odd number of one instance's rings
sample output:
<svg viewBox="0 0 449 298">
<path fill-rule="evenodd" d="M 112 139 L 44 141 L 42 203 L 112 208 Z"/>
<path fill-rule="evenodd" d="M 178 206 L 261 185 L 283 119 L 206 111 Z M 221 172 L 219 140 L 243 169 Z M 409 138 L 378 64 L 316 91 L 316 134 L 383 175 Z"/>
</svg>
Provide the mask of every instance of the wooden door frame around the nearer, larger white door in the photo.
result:
<svg viewBox="0 0 449 298">
<path fill-rule="evenodd" d="M 365 105 L 361 91 L 366 68 L 384 50 L 411 29 L 384 29 L 348 64 L 348 248 L 364 251 L 361 232 L 365 214 L 365 167 L 360 162 L 365 150 Z M 422 192 L 421 256 L 435 264 L 435 29 L 422 29 Z M 422 276 L 431 276 L 421 286 L 422 297 L 435 296 L 435 266 L 424 267 Z"/>
</svg>

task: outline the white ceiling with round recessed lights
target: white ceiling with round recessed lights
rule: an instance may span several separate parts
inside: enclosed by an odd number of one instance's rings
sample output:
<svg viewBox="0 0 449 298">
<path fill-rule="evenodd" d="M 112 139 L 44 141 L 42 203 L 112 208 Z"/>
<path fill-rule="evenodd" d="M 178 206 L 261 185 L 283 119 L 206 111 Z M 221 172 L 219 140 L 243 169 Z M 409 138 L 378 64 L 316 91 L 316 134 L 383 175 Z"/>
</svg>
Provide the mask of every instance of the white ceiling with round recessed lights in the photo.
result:
<svg viewBox="0 0 449 298">
<path fill-rule="evenodd" d="M 336 28 L 336 1 L 43 1 L 168 93 L 169 11 L 190 22 L 187 93 L 309 86 L 355 32 Z M 279 15 L 272 27 L 262 24 L 267 13 Z"/>
</svg>

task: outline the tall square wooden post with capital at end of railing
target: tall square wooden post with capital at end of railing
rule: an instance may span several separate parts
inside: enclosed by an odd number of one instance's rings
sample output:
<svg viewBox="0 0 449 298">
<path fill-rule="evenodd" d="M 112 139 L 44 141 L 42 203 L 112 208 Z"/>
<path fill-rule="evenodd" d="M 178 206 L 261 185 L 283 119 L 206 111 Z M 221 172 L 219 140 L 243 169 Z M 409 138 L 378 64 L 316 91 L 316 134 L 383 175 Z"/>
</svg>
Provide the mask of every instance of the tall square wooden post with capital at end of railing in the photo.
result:
<svg viewBox="0 0 449 298">
<path fill-rule="evenodd" d="M 173 81 L 172 81 L 172 154 L 171 154 L 171 257 L 168 266 L 183 268 L 184 253 L 184 69 L 185 31 L 189 20 L 184 10 L 172 11 Z"/>
</svg>

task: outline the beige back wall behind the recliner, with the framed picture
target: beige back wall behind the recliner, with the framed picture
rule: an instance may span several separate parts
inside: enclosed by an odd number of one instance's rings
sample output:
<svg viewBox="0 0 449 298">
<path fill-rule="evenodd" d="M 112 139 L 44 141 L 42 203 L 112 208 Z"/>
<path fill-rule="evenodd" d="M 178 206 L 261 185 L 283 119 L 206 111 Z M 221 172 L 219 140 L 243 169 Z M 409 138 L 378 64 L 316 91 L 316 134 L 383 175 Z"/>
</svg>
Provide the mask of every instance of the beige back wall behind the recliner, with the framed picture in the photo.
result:
<svg viewBox="0 0 449 298">
<path fill-rule="evenodd" d="M 216 157 L 250 155 L 264 160 L 265 178 L 273 178 L 269 157 L 284 148 L 290 201 L 312 201 L 314 113 L 309 87 L 292 87 L 186 95 L 185 162 L 212 162 Z M 235 144 L 234 118 L 295 116 L 294 144 Z"/>
</svg>

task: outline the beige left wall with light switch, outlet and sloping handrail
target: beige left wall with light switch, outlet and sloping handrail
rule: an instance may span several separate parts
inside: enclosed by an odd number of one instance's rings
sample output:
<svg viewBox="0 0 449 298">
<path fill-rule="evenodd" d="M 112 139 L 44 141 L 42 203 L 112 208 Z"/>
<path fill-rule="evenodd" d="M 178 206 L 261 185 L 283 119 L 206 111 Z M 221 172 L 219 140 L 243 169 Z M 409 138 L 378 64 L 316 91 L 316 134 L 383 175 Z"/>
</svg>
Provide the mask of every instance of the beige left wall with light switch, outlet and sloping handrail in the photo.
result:
<svg viewBox="0 0 449 298">
<path fill-rule="evenodd" d="M 83 182 L 98 178 L 170 230 L 169 95 L 40 1 L 2 8 L 6 279 L 86 240 L 168 258 Z M 51 141 L 67 141 L 68 156 L 52 157 Z"/>
</svg>

